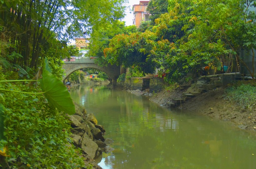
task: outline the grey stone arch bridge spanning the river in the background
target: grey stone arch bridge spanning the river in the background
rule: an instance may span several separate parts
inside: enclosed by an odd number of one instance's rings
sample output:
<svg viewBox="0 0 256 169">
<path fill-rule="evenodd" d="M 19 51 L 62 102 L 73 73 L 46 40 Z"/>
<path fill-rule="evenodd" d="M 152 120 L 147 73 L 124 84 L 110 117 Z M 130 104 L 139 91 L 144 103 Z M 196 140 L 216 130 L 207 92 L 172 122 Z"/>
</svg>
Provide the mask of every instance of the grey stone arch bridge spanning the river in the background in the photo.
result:
<svg viewBox="0 0 256 169">
<path fill-rule="evenodd" d="M 101 67 L 95 64 L 94 60 L 95 59 L 89 57 L 72 57 L 70 61 L 64 60 L 64 65 L 62 66 L 65 73 L 65 75 L 62 77 L 63 83 L 65 82 L 67 77 L 76 70 L 80 70 L 83 68 L 95 68 L 105 72 L 112 79 L 112 83 L 114 85 L 119 75 L 121 75 L 121 73 L 123 73 L 124 71 L 121 70 L 121 66 L 109 64 L 106 67 Z"/>
</svg>

